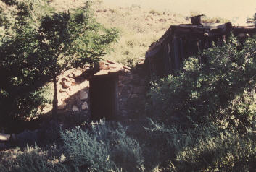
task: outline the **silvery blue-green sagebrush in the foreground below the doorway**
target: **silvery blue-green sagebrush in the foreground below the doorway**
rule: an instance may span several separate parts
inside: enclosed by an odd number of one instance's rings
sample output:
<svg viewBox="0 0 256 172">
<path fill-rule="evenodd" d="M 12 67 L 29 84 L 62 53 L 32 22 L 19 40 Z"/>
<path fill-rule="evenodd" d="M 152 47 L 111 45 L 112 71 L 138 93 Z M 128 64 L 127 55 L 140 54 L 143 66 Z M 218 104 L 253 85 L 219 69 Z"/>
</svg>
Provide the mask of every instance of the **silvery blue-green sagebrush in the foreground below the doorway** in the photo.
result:
<svg viewBox="0 0 256 172">
<path fill-rule="evenodd" d="M 122 126 L 102 122 L 91 131 L 62 132 L 64 152 L 75 171 L 143 171 L 141 148 Z"/>
</svg>

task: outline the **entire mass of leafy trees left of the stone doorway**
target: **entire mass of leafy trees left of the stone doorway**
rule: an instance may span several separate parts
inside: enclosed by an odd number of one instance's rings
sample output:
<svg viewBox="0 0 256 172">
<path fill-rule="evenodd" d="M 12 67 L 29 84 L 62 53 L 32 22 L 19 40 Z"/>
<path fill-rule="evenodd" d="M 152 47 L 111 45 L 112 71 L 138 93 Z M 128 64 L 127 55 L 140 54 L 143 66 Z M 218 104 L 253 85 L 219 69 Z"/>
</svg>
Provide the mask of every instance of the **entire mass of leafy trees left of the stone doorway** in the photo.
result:
<svg viewBox="0 0 256 172">
<path fill-rule="evenodd" d="M 1 121 L 25 119 L 44 103 L 41 87 L 67 69 L 99 61 L 116 40 L 117 30 L 95 22 L 90 3 L 54 12 L 43 0 L 1 1 Z"/>
</svg>

